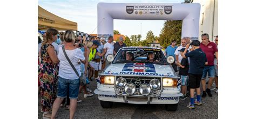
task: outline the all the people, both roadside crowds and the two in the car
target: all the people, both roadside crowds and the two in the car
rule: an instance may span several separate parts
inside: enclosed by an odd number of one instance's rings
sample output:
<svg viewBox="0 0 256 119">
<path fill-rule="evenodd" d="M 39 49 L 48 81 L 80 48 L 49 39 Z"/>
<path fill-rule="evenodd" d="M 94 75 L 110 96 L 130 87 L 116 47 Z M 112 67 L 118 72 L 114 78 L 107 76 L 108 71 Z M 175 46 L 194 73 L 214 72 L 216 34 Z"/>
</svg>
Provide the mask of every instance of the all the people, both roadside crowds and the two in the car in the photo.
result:
<svg viewBox="0 0 256 119">
<path fill-rule="evenodd" d="M 59 44 L 56 43 L 57 39 L 61 41 Z M 201 43 L 198 40 L 191 42 L 184 38 L 179 47 L 173 40 L 165 49 L 166 57 L 171 55 L 176 60 L 172 66 L 181 78 L 183 96 L 180 96 L 180 100 L 187 99 L 188 91 L 190 103 L 187 107 L 190 109 L 202 104 L 201 97 L 212 97 L 211 90 L 218 93 L 218 36 L 215 36 L 215 43 L 209 40 L 207 33 L 201 35 L 201 40 Z M 82 101 L 78 99 L 78 94 L 83 92 L 84 98 L 93 95 L 87 85 L 98 77 L 99 69 L 104 69 L 109 64 L 106 56 L 116 55 L 122 47 L 126 47 L 122 37 L 116 43 L 113 43 L 113 36 L 109 36 L 107 42 L 105 38 L 95 36 L 86 40 L 84 36 L 76 36 L 70 30 L 58 32 L 49 28 L 43 34 L 43 42 L 38 43 L 38 92 L 41 96 L 43 118 L 55 118 L 59 107 L 64 105 L 70 110 L 70 118 L 73 118 L 77 102 Z M 133 57 L 126 56 L 127 60 Z M 152 57 L 153 55 L 149 56 L 149 59 Z M 90 62 L 96 62 L 101 67 L 96 70 Z M 215 87 L 212 88 L 214 81 Z"/>
</svg>

